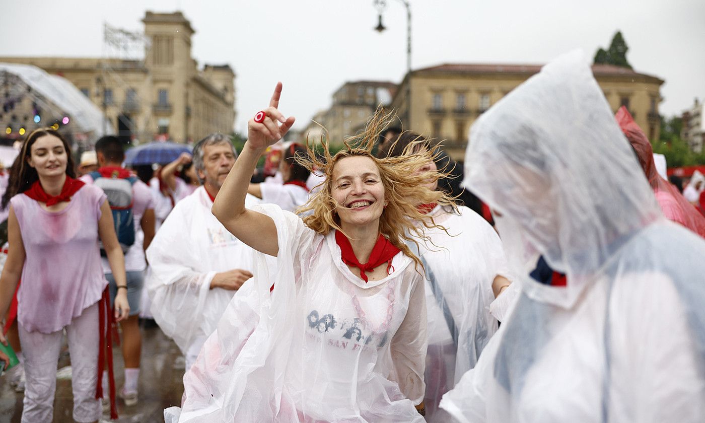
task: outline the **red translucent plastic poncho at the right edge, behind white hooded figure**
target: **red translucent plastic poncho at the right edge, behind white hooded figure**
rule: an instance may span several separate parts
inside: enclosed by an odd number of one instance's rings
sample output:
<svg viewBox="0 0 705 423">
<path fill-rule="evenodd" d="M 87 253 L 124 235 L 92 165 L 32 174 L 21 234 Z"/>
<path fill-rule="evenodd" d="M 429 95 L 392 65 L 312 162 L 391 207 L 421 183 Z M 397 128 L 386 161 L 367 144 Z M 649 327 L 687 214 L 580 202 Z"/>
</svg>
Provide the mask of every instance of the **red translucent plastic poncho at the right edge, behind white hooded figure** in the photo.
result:
<svg viewBox="0 0 705 423">
<path fill-rule="evenodd" d="M 620 107 L 615 114 L 622 132 L 637 153 L 639 164 L 644 169 L 646 180 L 649 180 L 651 189 L 654 190 L 656 201 L 667 219 L 680 223 L 694 233 L 705 237 L 705 217 L 690 204 L 685 197 L 680 195 L 678 189 L 668 180 L 661 178 L 654 162 L 654 149 L 646 134 L 639 128 L 632 115 L 625 106 Z"/>
</svg>

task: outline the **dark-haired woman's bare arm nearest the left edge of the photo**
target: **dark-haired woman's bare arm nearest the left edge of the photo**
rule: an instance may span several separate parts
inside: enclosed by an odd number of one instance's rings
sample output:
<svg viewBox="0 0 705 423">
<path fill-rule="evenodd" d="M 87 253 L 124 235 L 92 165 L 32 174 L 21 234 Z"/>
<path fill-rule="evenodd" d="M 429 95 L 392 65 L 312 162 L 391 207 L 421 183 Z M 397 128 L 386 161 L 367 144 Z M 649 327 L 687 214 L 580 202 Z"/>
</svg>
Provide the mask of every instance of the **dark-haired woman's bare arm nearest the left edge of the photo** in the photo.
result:
<svg viewBox="0 0 705 423">
<path fill-rule="evenodd" d="M 25 244 L 20 233 L 20 224 L 17 221 L 15 211 L 10 206 L 10 215 L 7 221 L 7 242 L 8 254 L 5 266 L 0 276 L 0 316 L 7 314 L 10 303 L 15 295 L 17 284 L 22 276 L 22 269 L 25 266 Z M 0 331 L 0 342 L 7 345 L 7 340 Z"/>
</svg>

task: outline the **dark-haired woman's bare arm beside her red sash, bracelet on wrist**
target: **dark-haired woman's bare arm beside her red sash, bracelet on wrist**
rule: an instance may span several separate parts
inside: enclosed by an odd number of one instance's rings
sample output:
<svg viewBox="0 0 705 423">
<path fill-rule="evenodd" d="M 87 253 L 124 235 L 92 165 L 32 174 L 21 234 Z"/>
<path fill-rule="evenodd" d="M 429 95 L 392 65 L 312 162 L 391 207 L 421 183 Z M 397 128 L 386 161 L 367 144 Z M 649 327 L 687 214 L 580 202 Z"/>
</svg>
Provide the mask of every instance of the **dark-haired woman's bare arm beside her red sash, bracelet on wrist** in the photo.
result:
<svg viewBox="0 0 705 423">
<path fill-rule="evenodd" d="M 115 234 L 115 226 L 113 224 L 113 214 L 110 211 L 108 201 L 105 200 L 100 206 L 100 219 L 98 220 L 98 235 L 103 248 L 108 256 L 110 270 L 115 279 L 116 286 L 127 287 L 127 277 L 125 276 L 125 256 L 123 249 L 118 242 L 118 235 Z M 120 288 L 115 297 L 115 318 L 117 321 L 127 319 L 130 314 L 130 305 L 128 303 L 128 290 Z"/>
</svg>

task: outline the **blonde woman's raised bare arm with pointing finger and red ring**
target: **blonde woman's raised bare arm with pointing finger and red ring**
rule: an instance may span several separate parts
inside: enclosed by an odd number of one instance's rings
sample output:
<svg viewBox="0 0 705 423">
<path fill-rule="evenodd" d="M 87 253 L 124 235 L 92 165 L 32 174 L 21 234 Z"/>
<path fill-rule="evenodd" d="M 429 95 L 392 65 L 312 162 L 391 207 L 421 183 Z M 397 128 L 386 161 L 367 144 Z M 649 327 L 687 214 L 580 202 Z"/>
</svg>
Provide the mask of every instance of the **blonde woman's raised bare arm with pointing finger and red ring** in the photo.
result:
<svg viewBox="0 0 705 423">
<path fill-rule="evenodd" d="M 274 221 L 265 214 L 247 209 L 245 197 L 257 160 L 266 147 L 281 140 L 294 123 L 293 117 L 284 118 L 277 110 L 280 96 L 281 82 L 278 82 L 269 107 L 265 110 L 264 122 L 257 123 L 250 119 L 247 123 L 248 136 L 243 152 L 228 173 L 212 208 L 216 219 L 239 240 L 259 252 L 272 256 L 276 256 L 279 251 Z"/>
</svg>

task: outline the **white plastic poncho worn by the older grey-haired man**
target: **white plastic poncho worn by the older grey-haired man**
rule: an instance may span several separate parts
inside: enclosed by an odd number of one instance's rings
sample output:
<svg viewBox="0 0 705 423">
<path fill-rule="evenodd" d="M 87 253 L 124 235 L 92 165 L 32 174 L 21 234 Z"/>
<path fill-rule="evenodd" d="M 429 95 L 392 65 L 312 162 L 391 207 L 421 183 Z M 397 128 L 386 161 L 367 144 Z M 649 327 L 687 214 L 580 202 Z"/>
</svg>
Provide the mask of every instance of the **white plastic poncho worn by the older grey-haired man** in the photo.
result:
<svg viewBox="0 0 705 423">
<path fill-rule="evenodd" d="M 247 196 L 248 205 L 258 202 Z M 252 248 L 229 233 L 211 207 L 205 188 L 197 188 L 176 204 L 147 248 L 151 311 L 161 330 L 186 355 L 186 369 L 235 293 L 210 289 L 213 276 L 252 269 Z"/>
</svg>

